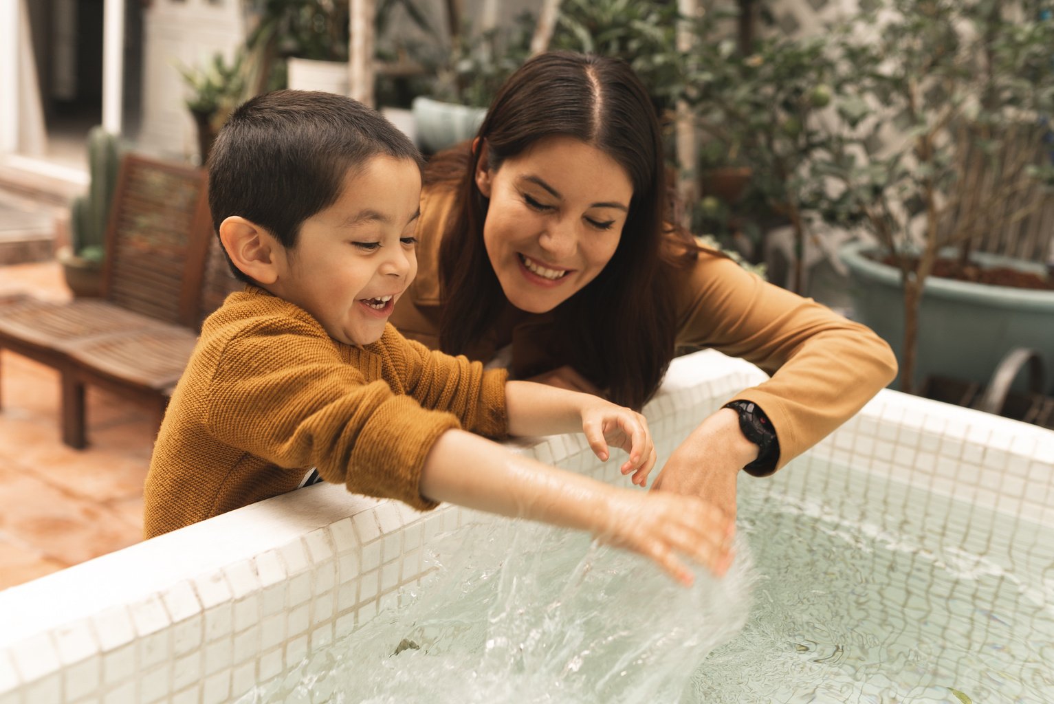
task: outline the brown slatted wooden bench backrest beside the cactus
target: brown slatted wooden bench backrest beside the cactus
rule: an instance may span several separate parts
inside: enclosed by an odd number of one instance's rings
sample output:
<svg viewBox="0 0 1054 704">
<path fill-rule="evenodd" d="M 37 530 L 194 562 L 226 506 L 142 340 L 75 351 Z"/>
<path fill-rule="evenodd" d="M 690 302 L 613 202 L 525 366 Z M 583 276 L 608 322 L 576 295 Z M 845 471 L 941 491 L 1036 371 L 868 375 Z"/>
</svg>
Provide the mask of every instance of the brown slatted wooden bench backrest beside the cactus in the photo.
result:
<svg viewBox="0 0 1054 704">
<path fill-rule="evenodd" d="M 125 155 L 106 234 L 104 297 L 167 322 L 196 326 L 211 233 L 203 170 Z"/>
</svg>

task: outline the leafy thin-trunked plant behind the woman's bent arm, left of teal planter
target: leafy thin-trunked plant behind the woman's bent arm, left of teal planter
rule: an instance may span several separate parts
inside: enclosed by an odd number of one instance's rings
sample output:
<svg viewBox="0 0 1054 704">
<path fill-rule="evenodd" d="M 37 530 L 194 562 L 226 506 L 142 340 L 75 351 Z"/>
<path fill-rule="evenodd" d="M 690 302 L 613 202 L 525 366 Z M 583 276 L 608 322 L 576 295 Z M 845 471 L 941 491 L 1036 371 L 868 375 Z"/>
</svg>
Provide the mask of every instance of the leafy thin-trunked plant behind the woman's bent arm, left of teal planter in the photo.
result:
<svg viewBox="0 0 1054 704">
<path fill-rule="evenodd" d="M 826 200 L 812 164 L 832 148 L 824 113 L 840 97 L 838 66 L 823 38 L 759 39 L 744 56 L 734 39 L 713 39 L 719 19 L 710 14 L 698 25 L 686 91 L 708 139 L 701 191 L 735 203 L 748 180 L 753 196 L 793 229 L 793 288 L 801 291 L 809 219 Z M 729 184 L 738 188 L 728 193 Z M 713 201 L 700 208 L 713 210 Z"/>
</svg>

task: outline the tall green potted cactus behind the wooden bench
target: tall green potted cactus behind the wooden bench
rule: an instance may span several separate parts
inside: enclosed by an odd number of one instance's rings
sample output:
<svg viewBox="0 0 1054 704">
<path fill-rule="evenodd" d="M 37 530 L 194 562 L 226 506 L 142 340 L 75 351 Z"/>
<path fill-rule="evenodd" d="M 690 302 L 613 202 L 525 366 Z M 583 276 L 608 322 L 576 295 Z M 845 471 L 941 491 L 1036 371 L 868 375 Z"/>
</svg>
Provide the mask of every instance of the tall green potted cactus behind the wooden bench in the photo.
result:
<svg viewBox="0 0 1054 704">
<path fill-rule="evenodd" d="M 120 145 L 116 135 L 101 126 L 87 134 L 91 183 L 87 193 L 70 204 L 70 245 L 56 252 L 66 286 L 77 297 L 99 296 L 102 290 L 102 260 L 106 250 L 110 204 L 117 187 Z"/>
</svg>

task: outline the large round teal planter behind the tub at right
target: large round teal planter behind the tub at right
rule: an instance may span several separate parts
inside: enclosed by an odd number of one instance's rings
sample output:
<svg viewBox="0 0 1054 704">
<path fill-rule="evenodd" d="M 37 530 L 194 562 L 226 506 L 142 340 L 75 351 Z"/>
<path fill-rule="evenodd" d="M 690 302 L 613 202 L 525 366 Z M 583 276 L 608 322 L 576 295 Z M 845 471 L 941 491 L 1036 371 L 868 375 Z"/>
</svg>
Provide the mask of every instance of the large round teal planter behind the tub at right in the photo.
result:
<svg viewBox="0 0 1054 704">
<path fill-rule="evenodd" d="M 864 256 L 871 251 L 873 246 L 851 242 L 839 255 L 850 269 L 857 319 L 890 343 L 899 359 L 904 339 L 900 271 Z M 975 260 L 1043 271 L 1040 265 L 1009 257 L 977 254 Z M 926 279 L 919 310 L 916 385 L 930 374 L 987 384 L 999 360 L 1017 347 L 1039 351 L 1047 392 L 1054 392 L 1054 291 Z M 900 387 L 899 375 L 892 386 Z"/>
</svg>

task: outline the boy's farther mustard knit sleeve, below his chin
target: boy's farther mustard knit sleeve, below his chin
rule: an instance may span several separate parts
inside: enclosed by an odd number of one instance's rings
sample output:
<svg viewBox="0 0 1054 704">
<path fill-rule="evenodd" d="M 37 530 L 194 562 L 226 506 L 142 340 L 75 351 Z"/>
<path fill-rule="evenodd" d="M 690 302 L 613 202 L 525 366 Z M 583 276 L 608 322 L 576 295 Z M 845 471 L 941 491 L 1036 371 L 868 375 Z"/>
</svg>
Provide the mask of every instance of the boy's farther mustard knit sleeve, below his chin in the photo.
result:
<svg viewBox="0 0 1054 704">
<path fill-rule="evenodd" d="M 487 437 L 508 433 L 504 369 L 484 371 L 480 361 L 452 356 L 408 340 L 391 326 L 382 341 L 391 350 L 406 393 L 424 408 L 453 413 L 462 428 Z"/>
</svg>

